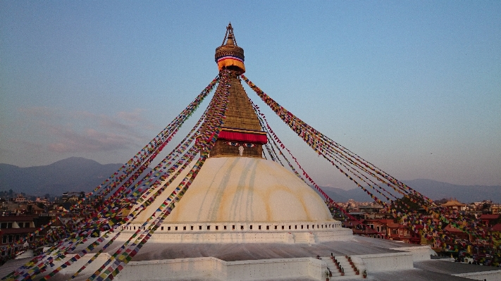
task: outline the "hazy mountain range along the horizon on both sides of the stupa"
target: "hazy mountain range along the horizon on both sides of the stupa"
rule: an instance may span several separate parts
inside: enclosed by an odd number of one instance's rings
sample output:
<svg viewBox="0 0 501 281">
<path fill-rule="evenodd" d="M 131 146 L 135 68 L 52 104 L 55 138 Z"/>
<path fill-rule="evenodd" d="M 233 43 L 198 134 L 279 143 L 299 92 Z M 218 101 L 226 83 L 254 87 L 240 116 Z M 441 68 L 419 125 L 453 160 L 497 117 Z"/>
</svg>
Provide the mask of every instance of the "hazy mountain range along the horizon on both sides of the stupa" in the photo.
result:
<svg viewBox="0 0 501 281">
<path fill-rule="evenodd" d="M 123 164 L 102 165 L 81 157 L 71 157 L 47 166 L 20 168 L 0 163 L 0 191 L 24 192 L 43 196 L 60 195 L 63 192 L 89 192 L 115 173 Z M 409 187 L 416 189 L 433 200 L 456 198 L 464 203 L 492 200 L 501 202 L 501 186 L 452 185 L 435 180 L 404 180 Z M 333 200 L 345 202 L 371 201 L 369 195 L 359 188 L 340 189 L 321 187 Z"/>
</svg>

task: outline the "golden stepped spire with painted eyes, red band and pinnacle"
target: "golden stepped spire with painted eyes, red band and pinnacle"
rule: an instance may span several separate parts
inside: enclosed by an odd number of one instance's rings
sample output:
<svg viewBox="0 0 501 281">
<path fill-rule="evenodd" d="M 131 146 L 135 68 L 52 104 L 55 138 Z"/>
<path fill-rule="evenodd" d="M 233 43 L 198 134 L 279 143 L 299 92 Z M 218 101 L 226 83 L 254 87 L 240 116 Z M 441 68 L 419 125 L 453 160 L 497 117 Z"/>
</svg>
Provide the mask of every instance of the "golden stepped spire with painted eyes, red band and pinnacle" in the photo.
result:
<svg viewBox="0 0 501 281">
<path fill-rule="evenodd" d="M 240 82 L 240 75 L 245 73 L 244 49 L 237 46 L 231 23 L 226 27 L 223 44 L 216 48 L 215 58 L 220 72 L 223 69 L 230 70 L 231 87 L 226 118 L 210 156 L 261 158 L 263 144 L 267 141 L 266 132 L 261 130 L 254 108 Z"/>
</svg>

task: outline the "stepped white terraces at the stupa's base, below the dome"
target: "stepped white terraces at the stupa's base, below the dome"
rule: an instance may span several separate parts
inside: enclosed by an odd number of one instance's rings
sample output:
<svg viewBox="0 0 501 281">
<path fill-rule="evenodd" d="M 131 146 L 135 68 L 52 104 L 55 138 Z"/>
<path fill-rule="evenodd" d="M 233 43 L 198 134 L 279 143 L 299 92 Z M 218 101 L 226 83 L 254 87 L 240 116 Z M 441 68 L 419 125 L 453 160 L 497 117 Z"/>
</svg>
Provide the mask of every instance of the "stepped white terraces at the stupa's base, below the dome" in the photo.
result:
<svg viewBox="0 0 501 281">
<path fill-rule="evenodd" d="M 118 243 L 120 244 L 120 243 Z M 75 281 L 86 280 L 117 249 L 108 253 L 87 268 Z M 411 249 L 408 249 L 411 248 Z M 128 263 L 116 280 L 273 280 L 312 281 L 325 280 L 326 263 L 315 256 L 349 255 L 357 268 L 367 269 L 366 280 L 448 281 L 497 280 L 497 273 L 487 266 L 428 260 L 414 261 L 412 246 L 389 240 L 354 236 L 350 240 L 317 244 L 282 243 L 229 243 L 229 244 L 168 244 L 148 242 L 139 254 Z M 423 247 L 417 246 L 420 252 Z M 98 249 L 96 249 L 98 250 Z M 405 251 L 402 251 L 405 250 Z M 72 255 L 68 255 L 65 261 Z M 68 280 L 92 254 L 63 270 L 51 280 Z M 6 274 L 28 258 L 9 261 L 0 268 Z M 64 261 L 58 261 L 56 266 Z M 414 263 L 414 268 L 413 268 Z M 484 273 L 476 273 L 485 270 Z M 46 272 L 45 274 L 49 273 Z M 461 273 L 476 273 L 462 276 Z M 4 275 L 1 275 L 4 276 Z M 0 277 L 1 277 L 0 276 Z M 41 275 L 39 277 L 42 277 Z M 35 278 L 35 280 L 39 279 Z M 471 279 L 468 279 L 471 278 Z M 334 280 L 334 279 L 333 279 Z M 361 275 L 343 276 L 340 280 L 361 280 Z"/>
</svg>

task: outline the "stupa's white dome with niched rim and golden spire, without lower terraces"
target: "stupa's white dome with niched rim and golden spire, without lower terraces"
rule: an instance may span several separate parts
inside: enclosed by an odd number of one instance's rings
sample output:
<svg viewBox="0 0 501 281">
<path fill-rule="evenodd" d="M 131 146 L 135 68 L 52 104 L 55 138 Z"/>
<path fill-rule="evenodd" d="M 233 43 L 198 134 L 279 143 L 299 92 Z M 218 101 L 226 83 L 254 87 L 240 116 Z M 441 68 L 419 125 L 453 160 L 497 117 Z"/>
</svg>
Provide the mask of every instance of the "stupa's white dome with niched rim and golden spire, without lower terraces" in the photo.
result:
<svg viewBox="0 0 501 281">
<path fill-rule="evenodd" d="M 216 49 L 216 62 L 220 71 L 230 70 L 228 109 L 221 132 L 190 191 L 152 240 L 314 243 L 350 237 L 351 230 L 333 220 L 311 187 L 280 164 L 263 158 L 266 132 L 240 82 L 245 72 L 244 50 L 237 46 L 231 25 Z M 182 178 L 171 184 L 172 190 Z M 140 227 L 172 190 L 156 198 L 128 230 Z"/>
</svg>

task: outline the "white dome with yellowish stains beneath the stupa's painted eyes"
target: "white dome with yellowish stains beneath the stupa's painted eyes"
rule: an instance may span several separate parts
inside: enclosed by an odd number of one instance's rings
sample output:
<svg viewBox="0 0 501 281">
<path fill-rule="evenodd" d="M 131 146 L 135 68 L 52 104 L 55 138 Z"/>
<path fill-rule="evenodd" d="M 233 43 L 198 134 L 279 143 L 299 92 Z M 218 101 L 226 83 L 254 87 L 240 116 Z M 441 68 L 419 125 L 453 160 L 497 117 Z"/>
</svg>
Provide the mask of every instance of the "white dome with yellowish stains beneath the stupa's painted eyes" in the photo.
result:
<svg viewBox="0 0 501 281">
<path fill-rule="evenodd" d="M 178 177 L 135 223 L 144 222 L 178 185 Z M 216 157 L 204 163 L 163 223 L 333 220 L 311 187 L 274 161 Z"/>
</svg>

